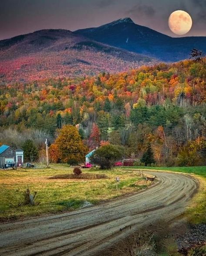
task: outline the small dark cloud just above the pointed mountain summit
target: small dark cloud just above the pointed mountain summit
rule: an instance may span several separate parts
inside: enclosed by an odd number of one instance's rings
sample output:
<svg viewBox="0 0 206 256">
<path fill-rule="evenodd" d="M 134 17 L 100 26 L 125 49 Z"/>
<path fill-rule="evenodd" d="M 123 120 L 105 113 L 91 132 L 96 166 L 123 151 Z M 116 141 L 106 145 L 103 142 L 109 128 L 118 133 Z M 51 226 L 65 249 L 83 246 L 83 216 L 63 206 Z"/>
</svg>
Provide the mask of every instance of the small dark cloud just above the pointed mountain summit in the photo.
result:
<svg viewBox="0 0 206 256">
<path fill-rule="evenodd" d="M 142 2 L 139 2 L 135 6 L 132 7 L 132 9 L 128 10 L 126 14 L 138 14 L 140 16 L 154 16 L 155 15 L 155 9 L 151 5 L 144 4 Z"/>
</svg>

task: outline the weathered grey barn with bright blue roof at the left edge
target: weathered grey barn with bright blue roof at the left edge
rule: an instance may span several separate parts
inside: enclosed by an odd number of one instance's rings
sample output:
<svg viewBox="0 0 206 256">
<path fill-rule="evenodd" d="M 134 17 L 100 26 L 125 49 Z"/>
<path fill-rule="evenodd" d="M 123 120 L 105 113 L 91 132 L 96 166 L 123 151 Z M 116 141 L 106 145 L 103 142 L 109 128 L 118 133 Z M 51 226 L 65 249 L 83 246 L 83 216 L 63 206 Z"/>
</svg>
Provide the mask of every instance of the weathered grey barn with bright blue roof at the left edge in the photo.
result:
<svg viewBox="0 0 206 256">
<path fill-rule="evenodd" d="M 12 149 L 8 145 L 0 146 L 0 168 L 21 166 L 24 163 L 23 149 Z"/>
</svg>

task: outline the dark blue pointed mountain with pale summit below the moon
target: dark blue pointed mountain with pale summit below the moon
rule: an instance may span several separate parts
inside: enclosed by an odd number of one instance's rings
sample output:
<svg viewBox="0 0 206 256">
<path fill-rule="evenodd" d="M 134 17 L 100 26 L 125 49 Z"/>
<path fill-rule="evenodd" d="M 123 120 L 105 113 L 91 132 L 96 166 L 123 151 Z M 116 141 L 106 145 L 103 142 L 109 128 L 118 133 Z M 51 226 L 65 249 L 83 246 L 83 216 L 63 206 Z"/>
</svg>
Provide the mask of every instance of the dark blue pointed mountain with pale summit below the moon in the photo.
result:
<svg viewBox="0 0 206 256">
<path fill-rule="evenodd" d="M 206 37 L 172 38 L 123 18 L 98 28 L 75 31 L 92 40 L 147 55 L 165 62 L 188 59 L 190 50 L 206 52 Z"/>
</svg>

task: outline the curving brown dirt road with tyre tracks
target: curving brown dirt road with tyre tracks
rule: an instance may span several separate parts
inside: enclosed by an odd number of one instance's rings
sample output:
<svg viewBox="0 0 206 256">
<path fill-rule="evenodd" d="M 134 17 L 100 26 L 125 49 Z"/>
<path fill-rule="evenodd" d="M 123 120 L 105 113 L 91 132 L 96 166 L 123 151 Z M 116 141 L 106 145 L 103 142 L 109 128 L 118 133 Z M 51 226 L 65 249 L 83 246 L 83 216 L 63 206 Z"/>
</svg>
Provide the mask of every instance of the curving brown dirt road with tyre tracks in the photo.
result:
<svg viewBox="0 0 206 256">
<path fill-rule="evenodd" d="M 169 221 L 184 212 L 196 180 L 175 173 L 149 173 L 159 183 L 140 193 L 70 213 L 1 224 L 0 255 L 89 256 L 143 225 Z"/>
</svg>

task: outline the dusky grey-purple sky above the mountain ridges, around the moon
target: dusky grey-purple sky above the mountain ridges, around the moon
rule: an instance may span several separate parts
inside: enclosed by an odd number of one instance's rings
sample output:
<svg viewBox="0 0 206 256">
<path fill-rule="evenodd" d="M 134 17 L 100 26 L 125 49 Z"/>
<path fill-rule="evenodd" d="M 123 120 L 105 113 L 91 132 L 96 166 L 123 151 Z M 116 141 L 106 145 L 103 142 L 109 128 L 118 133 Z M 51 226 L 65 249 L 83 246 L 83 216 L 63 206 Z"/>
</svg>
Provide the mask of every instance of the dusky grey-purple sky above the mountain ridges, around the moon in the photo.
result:
<svg viewBox="0 0 206 256">
<path fill-rule="evenodd" d="M 206 36 L 206 0 L 0 0 L 0 40 L 47 28 L 98 27 L 124 17 L 176 37 L 168 27 L 175 10 L 192 17 L 185 36 Z"/>
</svg>

